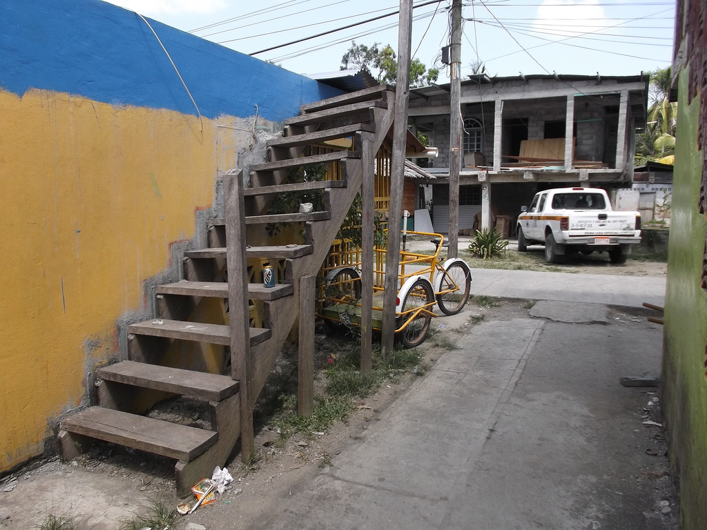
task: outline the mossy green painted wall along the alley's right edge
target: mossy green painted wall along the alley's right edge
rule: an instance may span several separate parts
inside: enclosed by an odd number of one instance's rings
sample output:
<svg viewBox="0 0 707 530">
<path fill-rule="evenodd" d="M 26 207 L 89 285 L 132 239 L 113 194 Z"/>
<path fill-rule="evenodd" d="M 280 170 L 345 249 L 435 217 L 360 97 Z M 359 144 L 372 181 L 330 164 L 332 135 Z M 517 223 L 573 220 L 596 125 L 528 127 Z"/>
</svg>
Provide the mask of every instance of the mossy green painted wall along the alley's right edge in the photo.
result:
<svg viewBox="0 0 707 530">
<path fill-rule="evenodd" d="M 707 526 L 707 293 L 701 288 L 707 218 L 699 213 L 703 153 L 698 95 L 679 73 L 677 145 L 668 250 L 661 398 L 670 458 L 679 478 L 683 530 Z"/>
</svg>

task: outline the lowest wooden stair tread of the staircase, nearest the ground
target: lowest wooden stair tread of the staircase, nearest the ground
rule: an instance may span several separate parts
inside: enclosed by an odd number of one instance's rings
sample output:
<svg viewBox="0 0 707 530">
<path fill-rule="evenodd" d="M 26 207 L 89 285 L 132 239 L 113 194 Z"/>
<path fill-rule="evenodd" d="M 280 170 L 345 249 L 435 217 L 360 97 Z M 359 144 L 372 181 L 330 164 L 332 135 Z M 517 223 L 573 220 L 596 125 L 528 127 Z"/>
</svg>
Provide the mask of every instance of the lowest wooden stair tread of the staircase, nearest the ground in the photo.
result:
<svg viewBox="0 0 707 530">
<path fill-rule="evenodd" d="M 218 440 L 218 433 L 211 430 L 102 407 L 86 408 L 64 418 L 61 428 L 98 440 L 187 461 L 198 457 Z"/>
</svg>

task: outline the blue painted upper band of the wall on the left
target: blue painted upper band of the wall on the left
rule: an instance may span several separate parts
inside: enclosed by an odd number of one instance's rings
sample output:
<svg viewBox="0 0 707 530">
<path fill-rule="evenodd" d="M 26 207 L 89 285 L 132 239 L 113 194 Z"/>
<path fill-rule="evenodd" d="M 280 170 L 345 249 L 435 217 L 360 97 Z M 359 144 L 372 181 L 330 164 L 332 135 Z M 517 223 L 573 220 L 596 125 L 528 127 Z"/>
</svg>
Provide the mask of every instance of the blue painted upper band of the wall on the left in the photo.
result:
<svg viewBox="0 0 707 530">
<path fill-rule="evenodd" d="M 148 19 L 204 117 L 282 121 L 338 95 L 310 78 Z M 0 88 L 81 95 L 112 105 L 197 114 L 159 42 L 136 13 L 99 0 L 0 1 Z"/>
</svg>

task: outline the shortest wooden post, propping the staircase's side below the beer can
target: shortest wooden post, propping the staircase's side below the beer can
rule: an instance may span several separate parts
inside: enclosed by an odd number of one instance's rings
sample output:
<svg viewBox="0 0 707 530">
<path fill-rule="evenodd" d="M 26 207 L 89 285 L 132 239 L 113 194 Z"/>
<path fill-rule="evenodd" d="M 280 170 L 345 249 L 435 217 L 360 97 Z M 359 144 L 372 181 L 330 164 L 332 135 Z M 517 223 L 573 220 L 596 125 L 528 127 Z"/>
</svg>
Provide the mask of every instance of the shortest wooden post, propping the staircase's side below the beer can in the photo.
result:
<svg viewBox="0 0 707 530">
<path fill-rule="evenodd" d="M 312 416 L 314 411 L 314 313 L 316 276 L 300 278 L 300 327 L 297 370 L 297 415 Z"/>
</svg>

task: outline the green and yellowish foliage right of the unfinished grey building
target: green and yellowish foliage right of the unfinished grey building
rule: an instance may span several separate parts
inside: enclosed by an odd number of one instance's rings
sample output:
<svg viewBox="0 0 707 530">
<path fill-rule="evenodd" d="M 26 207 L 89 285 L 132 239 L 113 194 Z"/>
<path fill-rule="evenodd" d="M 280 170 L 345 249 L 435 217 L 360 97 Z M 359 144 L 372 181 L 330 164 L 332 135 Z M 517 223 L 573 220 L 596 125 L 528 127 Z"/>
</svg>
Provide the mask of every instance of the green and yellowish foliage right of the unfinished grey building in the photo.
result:
<svg viewBox="0 0 707 530">
<path fill-rule="evenodd" d="M 670 66 L 650 72 L 648 123 L 636 137 L 636 165 L 648 161 L 674 163 L 677 103 L 670 101 Z"/>
</svg>

